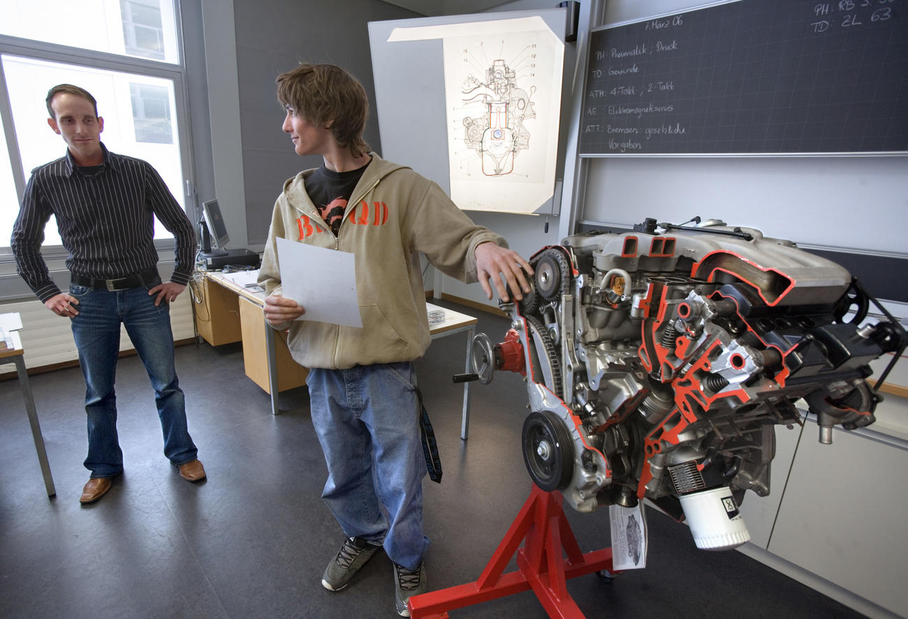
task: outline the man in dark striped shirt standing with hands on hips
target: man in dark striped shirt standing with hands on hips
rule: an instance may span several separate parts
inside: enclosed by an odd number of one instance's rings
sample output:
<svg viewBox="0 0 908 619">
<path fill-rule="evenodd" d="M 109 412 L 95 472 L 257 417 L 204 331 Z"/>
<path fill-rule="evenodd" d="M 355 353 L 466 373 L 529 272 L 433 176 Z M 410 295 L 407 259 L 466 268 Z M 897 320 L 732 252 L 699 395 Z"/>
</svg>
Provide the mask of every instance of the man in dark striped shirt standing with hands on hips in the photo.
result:
<svg viewBox="0 0 908 619">
<path fill-rule="evenodd" d="M 205 469 L 186 425 L 168 305 L 190 280 L 192 222 L 148 162 L 109 152 L 101 143 L 104 119 L 90 93 L 59 84 L 45 103 L 51 116 L 47 123 L 63 136 L 67 150 L 32 171 L 11 245 L 19 275 L 48 309 L 70 320 L 79 350 L 88 416 L 84 466 L 91 471 L 79 501 L 94 503 L 123 472 L 114 393 L 121 322 L 152 381 L 164 455 L 182 477 L 200 481 Z M 51 280 L 41 256 L 51 215 L 69 252 L 68 293 Z M 176 240 L 173 276 L 166 282 L 157 270 L 155 216 Z"/>
</svg>

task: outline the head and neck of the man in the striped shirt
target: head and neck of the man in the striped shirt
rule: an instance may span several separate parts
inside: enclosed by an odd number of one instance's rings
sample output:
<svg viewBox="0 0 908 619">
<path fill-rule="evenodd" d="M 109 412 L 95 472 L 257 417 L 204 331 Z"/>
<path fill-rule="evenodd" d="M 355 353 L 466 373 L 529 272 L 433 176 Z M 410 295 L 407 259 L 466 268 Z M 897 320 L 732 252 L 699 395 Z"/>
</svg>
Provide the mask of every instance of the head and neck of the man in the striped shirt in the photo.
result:
<svg viewBox="0 0 908 619">
<path fill-rule="evenodd" d="M 104 119 L 96 116 L 94 105 L 88 99 L 73 93 L 56 93 L 51 101 L 54 118 L 48 118 L 54 133 L 63 136 L 64 142 L 79 165 L 100 165 L 104 162 L 101 150 L 101 132 Z"/>
</svg>

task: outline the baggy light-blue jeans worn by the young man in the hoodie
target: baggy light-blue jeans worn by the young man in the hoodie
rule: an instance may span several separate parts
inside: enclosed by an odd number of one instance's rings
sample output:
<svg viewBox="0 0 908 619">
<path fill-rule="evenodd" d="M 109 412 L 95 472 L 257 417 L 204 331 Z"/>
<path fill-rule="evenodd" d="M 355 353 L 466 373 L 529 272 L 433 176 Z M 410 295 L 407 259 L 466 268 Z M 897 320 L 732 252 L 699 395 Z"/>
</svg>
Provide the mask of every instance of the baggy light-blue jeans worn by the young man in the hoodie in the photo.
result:
<svg viewBox="0 0 908 619">
<path fill-rule="evenodd" d="M 322 499 L 345 535 L 383 545 L 407 569 L 419 565 L 429 546 L 415 381 L 410 362 L 313 368 L 306 378 L 328 464 Z"/>
</svg>

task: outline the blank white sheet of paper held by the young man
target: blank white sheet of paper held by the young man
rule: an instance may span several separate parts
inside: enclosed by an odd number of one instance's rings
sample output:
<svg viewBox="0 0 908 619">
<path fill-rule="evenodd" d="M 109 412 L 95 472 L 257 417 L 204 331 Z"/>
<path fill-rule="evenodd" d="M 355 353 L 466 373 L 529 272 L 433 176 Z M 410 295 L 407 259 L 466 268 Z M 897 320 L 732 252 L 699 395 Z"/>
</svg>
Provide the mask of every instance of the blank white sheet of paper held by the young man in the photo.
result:
<svg viewBox="0 0 908 619">
<path fill-rule="evenodd" d="M 277 241 L 281 294 L 306 309 L 298 320 L 362 327 L 353 254 L 288 239 Z"/>
</svg>

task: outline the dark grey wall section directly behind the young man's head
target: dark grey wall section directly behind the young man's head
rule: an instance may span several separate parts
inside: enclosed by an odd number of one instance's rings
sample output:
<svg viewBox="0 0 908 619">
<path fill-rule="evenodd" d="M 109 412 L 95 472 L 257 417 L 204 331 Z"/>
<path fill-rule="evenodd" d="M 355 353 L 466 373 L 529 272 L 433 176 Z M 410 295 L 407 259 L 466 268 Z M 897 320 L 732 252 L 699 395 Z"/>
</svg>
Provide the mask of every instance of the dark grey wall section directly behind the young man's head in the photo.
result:
<svg viewBox="0 0 908 619">
<path fill-rule="evenodd" d="M 367 23 L 420 15 L 378 0 L 233 0 L 246 225 L 250 246 L 268 238 L 271 210 L 283 182 L 318 167 L 300 157 L 281 131 L 284 112 L 275 78 L 300 62 L 338 64 L 370 95 L 366 141 L 380 152 Z"/>
</svg>

